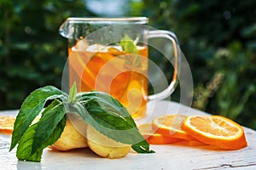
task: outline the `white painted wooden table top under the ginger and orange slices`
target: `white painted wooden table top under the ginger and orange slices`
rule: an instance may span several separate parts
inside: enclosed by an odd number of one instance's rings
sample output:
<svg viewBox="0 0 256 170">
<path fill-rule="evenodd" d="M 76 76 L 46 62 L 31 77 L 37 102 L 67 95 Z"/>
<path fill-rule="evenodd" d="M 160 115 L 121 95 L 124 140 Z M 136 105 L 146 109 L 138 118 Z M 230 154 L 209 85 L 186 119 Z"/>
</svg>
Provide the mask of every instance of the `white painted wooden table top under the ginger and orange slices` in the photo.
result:
<svg viewBox="0 0 256 170">
<path fill-rule="evenodd" d="M 184 113 L 206 113 L 174 102 L 160 101 L 148 105 L 148 117 L 138 123 L 150 122 L 154 116 Z M 0 111 L 0 115 L 17 111 Z M 0 170 L 9 169 L 256 169 L 256 132 L 244 127 L 248 146 L 241 150 L 218 150 L 196 142 L 151 145 L 154 154 L 130 154 L 120 159 L 96 156 L 89 149 L 57 152 L 44 150 L 42 161 L 18 161 L 15 150 L 9 152 L 9 135 L 0 135 Z"/>
</svg>

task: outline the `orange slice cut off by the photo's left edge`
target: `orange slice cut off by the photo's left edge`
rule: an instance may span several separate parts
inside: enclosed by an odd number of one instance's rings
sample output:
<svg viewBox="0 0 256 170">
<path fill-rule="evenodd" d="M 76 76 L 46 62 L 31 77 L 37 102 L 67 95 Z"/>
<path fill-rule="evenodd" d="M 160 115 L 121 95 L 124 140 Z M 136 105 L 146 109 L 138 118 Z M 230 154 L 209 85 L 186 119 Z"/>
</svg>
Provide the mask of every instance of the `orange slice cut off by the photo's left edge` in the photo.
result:
<svg viewBox="0 0 256 170">
<path fill-rule="evenodd" d="M 13 133 L 15 116 L 0 116 L 0 133 Z"/>
</svg>

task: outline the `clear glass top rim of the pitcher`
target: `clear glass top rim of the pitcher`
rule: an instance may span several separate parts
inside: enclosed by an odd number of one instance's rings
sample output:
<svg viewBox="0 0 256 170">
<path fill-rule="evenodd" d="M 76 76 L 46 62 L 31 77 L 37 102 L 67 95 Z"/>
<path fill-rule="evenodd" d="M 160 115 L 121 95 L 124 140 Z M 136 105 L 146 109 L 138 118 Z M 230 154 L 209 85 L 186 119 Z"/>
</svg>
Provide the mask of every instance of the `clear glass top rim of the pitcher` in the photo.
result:
<svg viewBox="0 0 256 170">
<path fill-rule="evenodd" d="M 129 23 L 137 23 L 137 24 L 147 24 L 148 17 L 69 17 L 67 21 L 71 22 L 83 22 L 83 21 L 102 21 L 102 22 L 113 22 L 113 23 L 122 23 L 122 22 L 129 22 Z"/>
</svg>

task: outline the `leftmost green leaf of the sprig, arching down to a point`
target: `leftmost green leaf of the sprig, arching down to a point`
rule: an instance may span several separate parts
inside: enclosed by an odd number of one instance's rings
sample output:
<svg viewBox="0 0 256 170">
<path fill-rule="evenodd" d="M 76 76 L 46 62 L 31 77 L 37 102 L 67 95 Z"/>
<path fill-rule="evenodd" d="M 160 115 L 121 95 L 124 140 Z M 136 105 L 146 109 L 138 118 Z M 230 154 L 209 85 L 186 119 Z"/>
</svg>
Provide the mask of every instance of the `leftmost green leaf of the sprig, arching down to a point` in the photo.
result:
<svg viewBox="0 0 256 170">
<path fill-rule="evenodd" d="M 10 150 L 13 150 L 15 145 L 18 144 L 26 129 L 43 110 L 45 103 L 50 99 L 58 98 L 65 101 L 67 100 L 67 94 L 53 86 L 38 88 L 26 97 L 15 120 Z"/>
</svg>

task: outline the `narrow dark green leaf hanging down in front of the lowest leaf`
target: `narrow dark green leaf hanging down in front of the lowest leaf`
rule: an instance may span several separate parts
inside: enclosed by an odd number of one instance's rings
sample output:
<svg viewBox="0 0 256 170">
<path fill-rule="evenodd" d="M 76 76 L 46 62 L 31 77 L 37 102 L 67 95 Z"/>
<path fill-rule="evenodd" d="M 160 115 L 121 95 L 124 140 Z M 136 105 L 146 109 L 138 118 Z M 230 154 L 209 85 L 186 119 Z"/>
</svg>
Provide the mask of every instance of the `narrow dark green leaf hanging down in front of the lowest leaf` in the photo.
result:
<svg viewBox="0 0 256 170">
<path fill-rule="evenodd" d="M 50 134 L 55 130 L 55 127 L 59 122 L 61 122 L 65 114 L 66 110 L 62 103 L 55 105 L 42 114 L 34 135 L 32 154 L 38 150 L 38 148 L 40 148 L 47 139 L 49 139 Z"/>
</svg>

